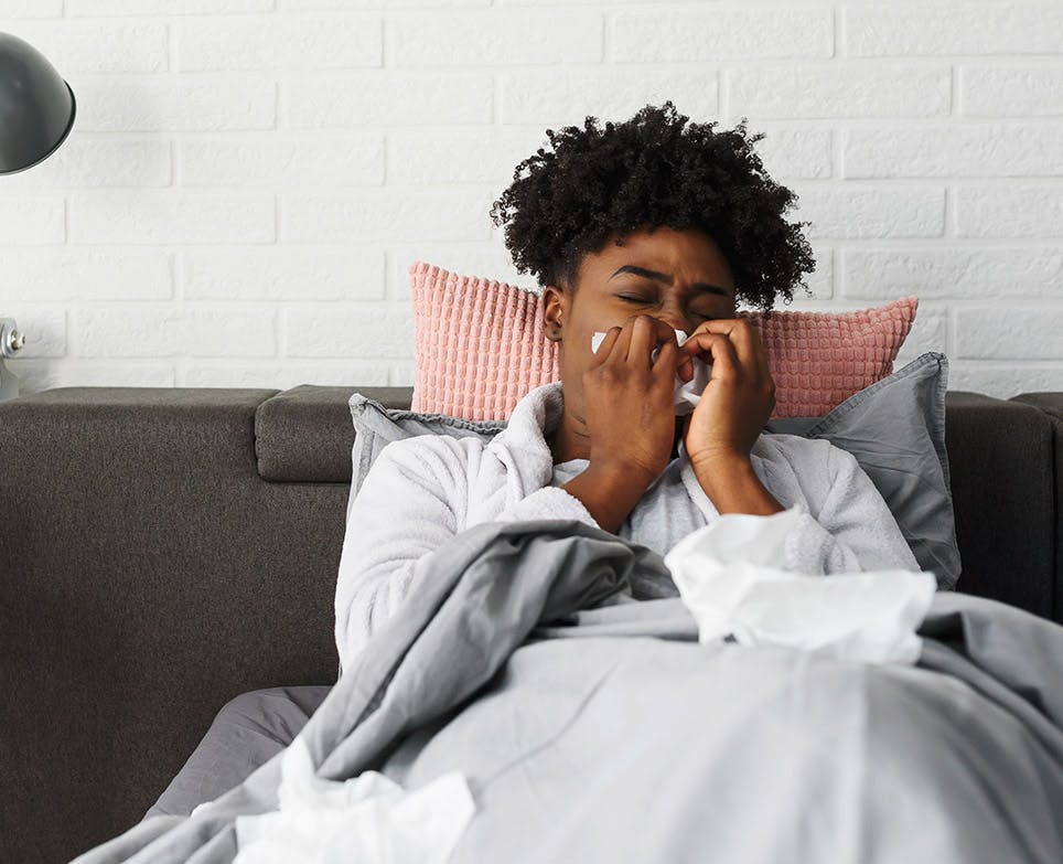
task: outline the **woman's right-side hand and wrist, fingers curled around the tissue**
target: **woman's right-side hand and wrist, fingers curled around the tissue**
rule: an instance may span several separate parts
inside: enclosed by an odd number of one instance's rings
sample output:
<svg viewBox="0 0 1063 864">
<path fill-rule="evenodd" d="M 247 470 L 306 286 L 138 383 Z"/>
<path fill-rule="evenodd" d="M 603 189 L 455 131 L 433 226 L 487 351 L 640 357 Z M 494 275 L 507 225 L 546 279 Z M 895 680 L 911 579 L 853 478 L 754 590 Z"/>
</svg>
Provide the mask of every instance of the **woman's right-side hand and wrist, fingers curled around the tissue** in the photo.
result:
<svg viewBox="0 0 1063 864">
<path fill-rule="evenodd" d="M 685 381 L 692 356 L 711 363 L 712 376 L 684 438 L 690 462 L 698 470 L 749 461 L 775 407 L 775 382 L 760 333 L 742 318 L 706 321 L 679 349 Z"/>
</svg>

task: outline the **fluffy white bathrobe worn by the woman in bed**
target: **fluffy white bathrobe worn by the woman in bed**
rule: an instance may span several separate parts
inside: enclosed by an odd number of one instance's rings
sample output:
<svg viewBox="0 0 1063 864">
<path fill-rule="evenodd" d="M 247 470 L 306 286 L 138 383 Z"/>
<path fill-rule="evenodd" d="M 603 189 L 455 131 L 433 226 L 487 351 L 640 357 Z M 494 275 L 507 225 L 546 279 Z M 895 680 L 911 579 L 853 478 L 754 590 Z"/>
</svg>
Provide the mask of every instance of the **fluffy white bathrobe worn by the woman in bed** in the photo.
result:
<svg viewBox="0 0 1063 864">
<path fill-rule="evenodd" d="M 483 522 L 575 519 L 598 525 L 559 487 L 586 459 L 554 465 L 547 437 L 561 418 L 559 383 L 532 391 L 506 428 L 479 437 L 418 436 L 389 444 L 347 508 L 336 584 L 341 666 L 402 604 L 417 562 Z M 781 569 L 824 575 L 902 568 L 919 563 L 893 514 L 856 458 L 829 441 L 763 434 L 750 454 L 761 482 L 801 519 Z M 666 554 L 719 516 L 683 445 L 646 490 L 620 536 Z"/>
</svg>

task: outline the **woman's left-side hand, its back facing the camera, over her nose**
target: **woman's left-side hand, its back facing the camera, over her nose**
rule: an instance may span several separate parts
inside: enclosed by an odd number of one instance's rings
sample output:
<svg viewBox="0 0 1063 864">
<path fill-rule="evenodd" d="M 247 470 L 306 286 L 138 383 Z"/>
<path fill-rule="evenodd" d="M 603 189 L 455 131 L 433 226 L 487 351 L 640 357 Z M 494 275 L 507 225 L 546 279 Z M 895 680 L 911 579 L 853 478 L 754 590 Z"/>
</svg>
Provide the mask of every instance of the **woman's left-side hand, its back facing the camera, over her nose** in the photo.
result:
<svg viewBox="0 0 1063 864">
<path fill-rule="evenodd" d="M 606 332 L 595 354 L 598 362 L 583 373 L 590 467 L 611 467 L 637 477 L 644 483 L 640 498 L 672 456 L 678 350 L 675 331 L 664 321 L 632 316 L 622 328 Z"/>
</svg>

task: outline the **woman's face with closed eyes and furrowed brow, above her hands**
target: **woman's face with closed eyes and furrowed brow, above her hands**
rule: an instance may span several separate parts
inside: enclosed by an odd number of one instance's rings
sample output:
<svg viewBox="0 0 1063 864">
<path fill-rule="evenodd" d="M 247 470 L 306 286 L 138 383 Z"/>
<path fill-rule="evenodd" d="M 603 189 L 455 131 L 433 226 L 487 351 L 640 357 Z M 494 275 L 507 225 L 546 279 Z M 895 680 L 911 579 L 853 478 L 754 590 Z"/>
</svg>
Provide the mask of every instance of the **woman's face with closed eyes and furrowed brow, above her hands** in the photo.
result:
<svg viewBox="0 0 1063 864">
<path fill-rule="evenodd" d="M 657 227 L 610 241 L 588 254 L 575 290 L 543 292 L 547 335 L 560 343 L 566 413 L 583 420 L 582 375 L 594 358 L 595 332 L 635 314 L 658 318 L 688 334 L 702 321 L 734 317 L 734 279 L 719 247 L 696 230 Z"/>
</svg>

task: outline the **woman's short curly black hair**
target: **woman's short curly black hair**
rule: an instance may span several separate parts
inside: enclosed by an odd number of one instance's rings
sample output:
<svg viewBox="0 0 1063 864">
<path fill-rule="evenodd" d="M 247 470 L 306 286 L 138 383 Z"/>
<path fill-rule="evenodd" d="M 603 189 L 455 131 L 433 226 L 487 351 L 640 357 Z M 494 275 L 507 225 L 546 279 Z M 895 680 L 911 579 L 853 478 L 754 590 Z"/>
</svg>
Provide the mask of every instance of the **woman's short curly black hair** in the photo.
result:
<svg viewBox="0 0 1063 864">
<path fill-rule="evenodd" d="M 513 172 L 491 207 L 519 273 L 539 286 L 575 286 L 580 263 L 609 239 L 640 228 L 699 228 L 727 257 L 735 299 L 771 313 L 793 299 L 815 262 L 801 226 L 782 214 L 796 195 L 764 172 L 747 137 L 747 118 L 730 131 L 717 122 L 687 124 L 670 100 L 647 105 L 630 120 L 588 117 L 583 128 L 547 129 L 539 148 Z M 810 291 L 809 291 L 810 294 Z"/>
</svg>

